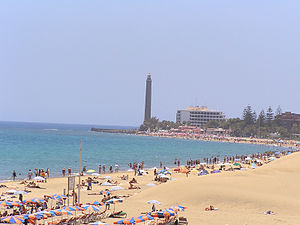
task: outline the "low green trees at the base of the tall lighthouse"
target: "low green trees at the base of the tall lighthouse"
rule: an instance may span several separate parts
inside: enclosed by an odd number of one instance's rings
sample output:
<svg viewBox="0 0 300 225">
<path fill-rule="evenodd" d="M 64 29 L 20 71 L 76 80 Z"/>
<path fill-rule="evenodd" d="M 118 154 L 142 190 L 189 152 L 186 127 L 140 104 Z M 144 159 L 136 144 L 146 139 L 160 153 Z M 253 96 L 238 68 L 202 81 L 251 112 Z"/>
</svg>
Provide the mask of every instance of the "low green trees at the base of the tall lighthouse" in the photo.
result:
<svg viewBox="0 0 300 225">
<path fill-rule="evenodd" d="M 152 117 L 149 120 L 144 121 L 144 123 L 140 126 L 140 131 L 158 131 L 158 130 L 170 130 L 171 128 L 178 128 L 182 124 L 175 123 L 173 121 L 159 121 L 158 118 Z"/>
</svg>

